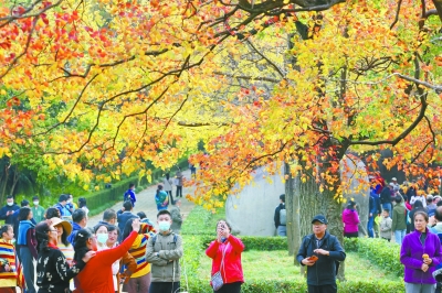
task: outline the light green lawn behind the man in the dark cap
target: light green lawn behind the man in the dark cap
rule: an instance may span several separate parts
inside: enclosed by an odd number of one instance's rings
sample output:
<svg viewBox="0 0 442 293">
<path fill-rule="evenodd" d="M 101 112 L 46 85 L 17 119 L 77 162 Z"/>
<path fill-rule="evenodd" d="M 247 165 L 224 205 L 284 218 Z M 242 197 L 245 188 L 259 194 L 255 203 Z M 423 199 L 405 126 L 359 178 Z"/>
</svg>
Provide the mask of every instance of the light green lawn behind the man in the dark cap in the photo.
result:
<svg viewBox="0 0 442 293">
<path fill-rule="evenodd" d="M 245 280 L 303 280 L 299 267 L 293 264 L 293 257 L 286 251 L 257 251 L 250 250 L 242 253 L 242 267 Z M 198 278 L 209 282 L 212 261 L 208 257 L 200 258 Z M 383 272 L 370 261 L 360 258 L 355 252 L 347 253 L 346 279 L 351 281 L 400 281 L 401 279 L 391 273 Z"/>
</svg>

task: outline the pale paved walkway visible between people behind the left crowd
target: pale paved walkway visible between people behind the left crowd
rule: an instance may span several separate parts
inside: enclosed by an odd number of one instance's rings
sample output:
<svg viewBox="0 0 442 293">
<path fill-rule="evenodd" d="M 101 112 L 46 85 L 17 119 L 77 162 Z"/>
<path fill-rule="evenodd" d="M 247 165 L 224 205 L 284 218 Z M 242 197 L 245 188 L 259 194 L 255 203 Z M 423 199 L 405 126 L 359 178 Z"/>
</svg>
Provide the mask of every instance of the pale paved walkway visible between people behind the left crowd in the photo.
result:
<svg viewBox="0 0 442 293">
<path fill-rule="evenodd" d="M 183 171 L 182 174 L 185 175 L 186 178 L 190 178 L 190 171 Z M 182 198 L 181 199 L 181 214 L 182 218 L 185 219 L 190 210 L 193 208 L 194 204 L 189 202 L 186 198 L 187 194 L 193 194 L 196 187 L 182 187 Z M 139 194 L 137 194 L 137 202 L 135 203 L 135 208 L 134 208 L 134 214 L 137 214 L 138 211 L 144 211 L 146 213 L 146 216 L 149 220 L 152 223 L 157 223 L 157 205 L 155 204 L 155 194 L 157 192 L 157 185 L 152 185 L 148 187 L 147 189 L 144 189 Z M 176 186 L 173 186 L 173 200 L 176 200 Z M 118 209 L 122 209 L 123 207 L 123 200 L 118 202 L 115 204 L 112 208 L 117 211 Z M 169 205 L 170 207 L 170 205 Z M 88 219 L 87 227 L 94 227 L 98 221 L 103 219 L 103 213 L 95 215 Z"/>
</svg>

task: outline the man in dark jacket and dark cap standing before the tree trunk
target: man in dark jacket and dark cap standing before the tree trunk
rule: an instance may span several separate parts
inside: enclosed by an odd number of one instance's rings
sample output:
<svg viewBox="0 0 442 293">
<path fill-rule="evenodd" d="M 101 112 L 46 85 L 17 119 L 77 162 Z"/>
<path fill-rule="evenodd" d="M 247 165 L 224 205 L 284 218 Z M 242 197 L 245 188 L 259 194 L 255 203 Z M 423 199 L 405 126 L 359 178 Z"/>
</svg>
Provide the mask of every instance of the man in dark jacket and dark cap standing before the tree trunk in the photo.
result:
<svg viewBox="0 0 442 293">
<path fill-rule="evenodd" d="M 336 236 L 327 232 L 325 216 L 315 216 L 312 224 L 313 234 L 304 237 L 296 260 L 307 265 L 308 293 L 336 293 L 337 268 L 346 253 Z"/>
</svg>

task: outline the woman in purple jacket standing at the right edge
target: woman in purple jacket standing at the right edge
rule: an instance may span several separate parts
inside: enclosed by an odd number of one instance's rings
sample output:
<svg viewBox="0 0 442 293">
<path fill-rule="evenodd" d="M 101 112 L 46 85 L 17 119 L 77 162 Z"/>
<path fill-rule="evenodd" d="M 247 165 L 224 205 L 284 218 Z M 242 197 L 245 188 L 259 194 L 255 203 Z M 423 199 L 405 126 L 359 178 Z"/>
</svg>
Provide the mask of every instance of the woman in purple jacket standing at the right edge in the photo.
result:
<svg viewBox="0 0 442 293">
<path fill-rule="evenodd" d="M 435 280 L 433 271 L 442 262 L 441 241 L 429 231 L 429 216 L 424 211 L 414 214 L 415 230 L 402 242 L 400 261 L 404 265 L 407 293 L 433 293 Z"/>
</svg>

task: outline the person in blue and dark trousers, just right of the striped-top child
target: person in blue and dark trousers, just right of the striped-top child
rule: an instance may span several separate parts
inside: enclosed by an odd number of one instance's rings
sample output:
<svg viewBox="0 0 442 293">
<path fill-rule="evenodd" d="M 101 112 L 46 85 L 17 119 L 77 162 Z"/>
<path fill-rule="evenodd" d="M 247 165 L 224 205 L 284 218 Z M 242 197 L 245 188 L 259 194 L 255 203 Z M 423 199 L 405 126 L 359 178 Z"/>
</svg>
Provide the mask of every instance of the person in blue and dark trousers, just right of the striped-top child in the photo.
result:
<svg viewBox="0 0 442 293">
<path fill-rule="evenodd" d="M 34 263 L 36 260 L 36 238 L 35 225 L 31 221 L 32 210 L 29 207 L 20 208 L 19 214 L 19 235 L 17 247 L 19 248 L 19 259 L 23 267 L 23 275 L 27 281 L 27 293 L 35 293 L 34 280 Z"/>
</svg>

